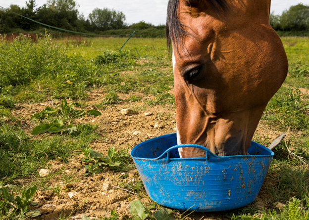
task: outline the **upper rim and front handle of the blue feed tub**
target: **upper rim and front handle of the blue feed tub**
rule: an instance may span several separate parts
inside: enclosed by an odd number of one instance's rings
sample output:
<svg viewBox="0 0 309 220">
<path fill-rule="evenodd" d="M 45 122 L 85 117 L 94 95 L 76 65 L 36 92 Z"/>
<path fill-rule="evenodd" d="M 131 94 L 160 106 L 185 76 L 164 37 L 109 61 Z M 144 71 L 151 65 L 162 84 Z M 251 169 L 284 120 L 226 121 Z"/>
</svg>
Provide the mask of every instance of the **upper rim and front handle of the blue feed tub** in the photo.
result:
<svg viewBox="0 0 309 220">
<path fill-rule="evenodd" d="M 255 142 L 255 141 L 251 141 L 251 144 L 256 144 L 258 147 L 266 150 L 269 155 L 232 155 L 232 156 L 218 156 L 218 155 L 215 155 L 213 154 L 210 150 L 208 150 L 206 147 L 204 146 L 201 146 L 201 145 L 197 145 L 197 144 L 181 144 L 181 145 L 174 145 L 174 146 L 171 146 L 169 147 L 167 150 L 165 150 L 160 156 L 156 157 L 156 158 L 142 158 L 142 157 L 134 157 L 133 156 L 133 153 L 142 145 L 148 143 L 148 142 L 152 142 L 154 141 L 155 139 L 161 139 L 161 138 L 165 138 L 167 136 L 173 136 L 173 135 L 176 135 L 176 132 L 175 133 L 169 133 L 169 134 L 164 134 L 164 135 L 161 135 L 161 136 L 157 136 L 157 137 L 153 137 L 151 139 L 148 139 L 146 141 L 143 141 L 139 144 L 137 144 L 135 147 L 133 147 L 133 149 L 131 150 L 131 157 L 134 159 L 134 160 L 149 160 L 149 161 L 154 161 L 154 160 L 159 160 L 161 158 L 163 158 L 163 156 L 168 153 L 170 150 L 172 149 L 175 149 L 176 146 L 179 146 L 179 147 L 199 147 L 199 148 L 205 148 L 205 150 L 207 151 L 207 154 L 211 154 L 213 157 L 217 158 L 217 159 L 229 159 L 229 158 L 256 158 L 256 157 L 273 157 L 274 156 L 274 152 L 270 149 L 268 149 L 267 147 Z M 207 157 L 206 157 L 207 158 Z M 198 159 L 206 159 L 205 157 L 191 157 L 191 158 L 177 158 L 177 160 L 198 160 Z"/>
</svg>

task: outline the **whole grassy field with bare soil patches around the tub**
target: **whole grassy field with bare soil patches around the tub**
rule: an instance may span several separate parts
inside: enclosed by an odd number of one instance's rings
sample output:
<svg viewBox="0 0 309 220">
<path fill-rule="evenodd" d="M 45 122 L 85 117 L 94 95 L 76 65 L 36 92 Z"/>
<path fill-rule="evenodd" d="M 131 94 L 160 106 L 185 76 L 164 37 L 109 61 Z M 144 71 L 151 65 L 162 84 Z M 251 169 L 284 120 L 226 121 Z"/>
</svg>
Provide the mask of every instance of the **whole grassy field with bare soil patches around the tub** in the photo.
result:
<svg viewBox="0 0 309 220">
<path fill-rule="evenodd" d="M 119 51 L 125 41 L 0 38 L 1 220 L 128 220 L 135 200 L 154 219 L 161 207 L 147 197 L 129 153 L 175 132 L 172 61 L 165 39 L 132 38 Z M 257 199 L 226 212 L 173 210 L 175 219 L 309 219 L 309 39 L 282 42 L 289 75 L 254 141 L 269 146 L 287 135 Z"/>
</svg>

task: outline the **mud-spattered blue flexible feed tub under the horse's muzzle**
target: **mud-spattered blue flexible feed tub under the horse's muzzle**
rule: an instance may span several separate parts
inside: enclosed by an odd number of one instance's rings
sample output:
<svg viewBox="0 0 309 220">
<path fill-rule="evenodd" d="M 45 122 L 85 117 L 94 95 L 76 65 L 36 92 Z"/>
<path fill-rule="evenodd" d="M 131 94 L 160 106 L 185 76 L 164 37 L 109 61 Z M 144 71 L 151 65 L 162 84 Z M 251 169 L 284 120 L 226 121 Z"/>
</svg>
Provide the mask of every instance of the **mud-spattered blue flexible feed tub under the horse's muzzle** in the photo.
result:
<svg viewBox="0 0 309 220">
<path fill-rule="evenodd" d="M 179 147 L 204 149 L 206 157 L 180 158 Z M 248 153 L 216 156 L 200 145 L 177 145 L 172 133 L 136 145 L 131 156 L 153 201 L 173 209 L 211 212 L 240 208 L 257 198 L 274 153 L 254 141 Z"/>
</svg>

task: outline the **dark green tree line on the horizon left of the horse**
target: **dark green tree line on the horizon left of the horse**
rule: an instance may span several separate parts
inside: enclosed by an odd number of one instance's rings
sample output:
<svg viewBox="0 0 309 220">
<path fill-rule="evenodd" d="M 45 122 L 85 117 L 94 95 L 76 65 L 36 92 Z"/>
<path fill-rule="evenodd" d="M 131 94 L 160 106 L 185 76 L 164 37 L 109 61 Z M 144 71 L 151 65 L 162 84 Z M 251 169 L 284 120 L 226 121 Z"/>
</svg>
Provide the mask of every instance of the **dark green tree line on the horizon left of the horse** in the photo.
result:
<svg viewBox="0 0 309 220">
<path fill-rule="evenodd" d="M 7 10 L 0 8 L 0 33 L 13 33 L 20 29 L 34 31 L 44 27 L 17 14 L 57 28 L 85 33 L 102 34 L 119 29 L 165 29 L 165 25 L 154 26 L 145 21 L 128 25 L 123 12 L 108 8 L 95 8 L 85 18 L 78 7 L 75 0 L 48 0 L 40 7 L 37 7 L 36 0 L 26 1 L 26 6 L 22 7 L 11 4 Z"/>
</svg>

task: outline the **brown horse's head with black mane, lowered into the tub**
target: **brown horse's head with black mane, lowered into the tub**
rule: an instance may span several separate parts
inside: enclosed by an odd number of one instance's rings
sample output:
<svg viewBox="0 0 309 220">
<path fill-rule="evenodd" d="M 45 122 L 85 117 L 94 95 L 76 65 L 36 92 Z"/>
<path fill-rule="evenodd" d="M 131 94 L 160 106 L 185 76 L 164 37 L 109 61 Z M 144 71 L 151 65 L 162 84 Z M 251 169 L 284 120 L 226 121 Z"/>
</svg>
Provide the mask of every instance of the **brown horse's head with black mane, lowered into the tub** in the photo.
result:
<svg viewBox="0 0 309 220">
<path fill-rule="evenodd" d="M 269 24 L 270 0 L 169 0 L 178 144 L 218 156 L 248 155 L 288 60 Z M 179 148 L 180 157 L 206 157 Z"/>
</svg>

